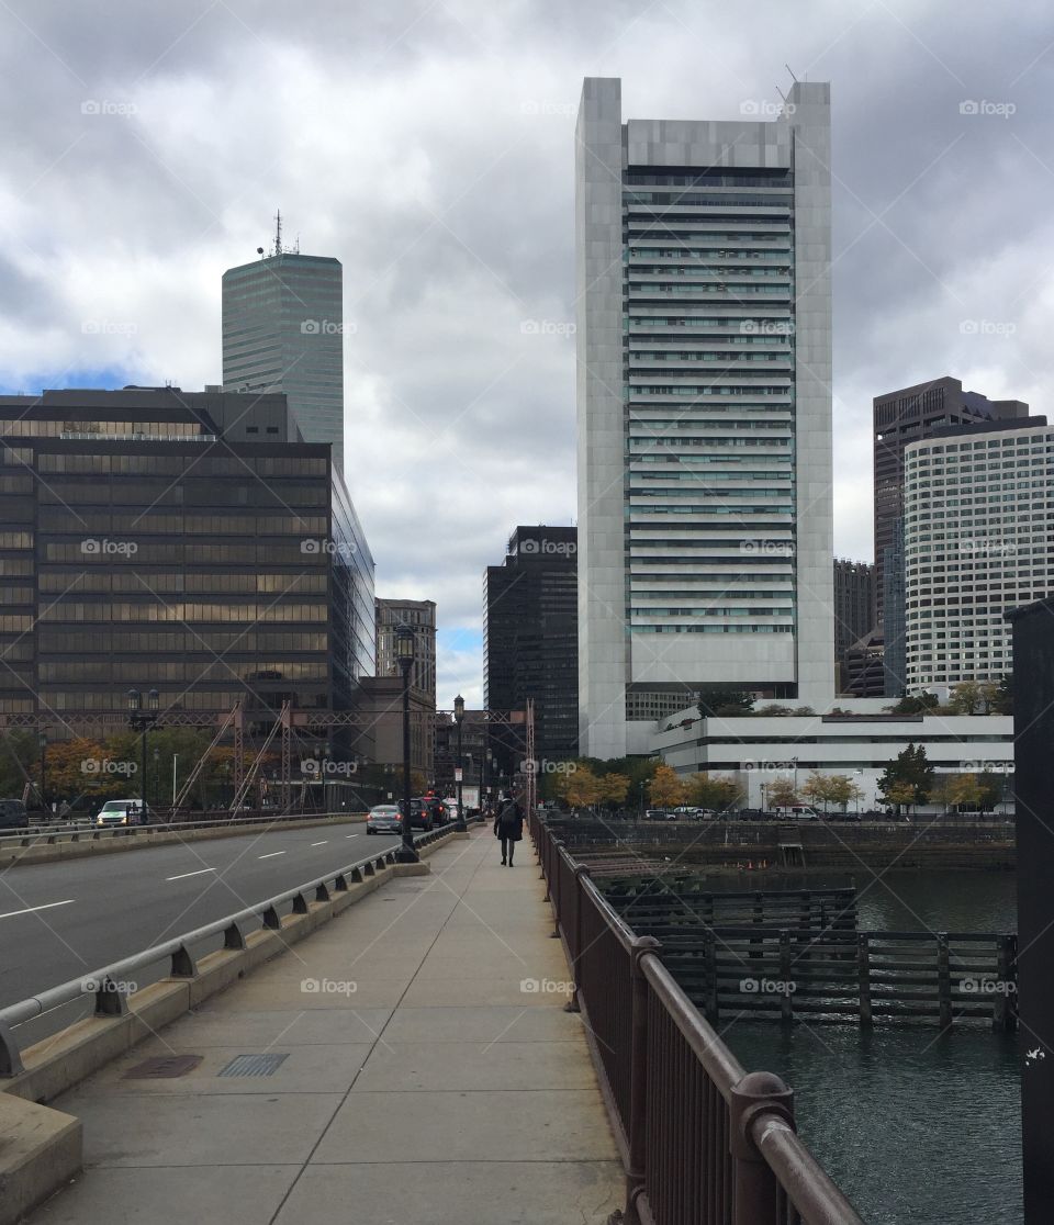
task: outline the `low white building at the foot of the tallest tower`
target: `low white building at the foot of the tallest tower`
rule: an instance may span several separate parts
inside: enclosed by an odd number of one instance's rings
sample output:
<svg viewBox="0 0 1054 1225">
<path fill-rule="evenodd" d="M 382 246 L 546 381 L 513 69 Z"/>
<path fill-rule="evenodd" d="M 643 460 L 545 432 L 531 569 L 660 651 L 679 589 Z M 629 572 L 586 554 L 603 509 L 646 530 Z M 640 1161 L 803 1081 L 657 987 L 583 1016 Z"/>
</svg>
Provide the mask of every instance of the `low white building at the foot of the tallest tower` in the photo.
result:
<svg viewBox="0 0 1054 1225">
<path fill-rule="evenodd" d="M 813 771 L 820 771 L 848 775 L 863 793 L 859 806 L 868 809 L 880 800 L 878 780 L 886 766 L 909 744 L 925 747 L 938 775 L 989 769 L 1005 777 L 1006 801 L 1011 800 L 1014 719 L 1003 714 L 854 712 L 702 719 L 689 707 L 654 724 L 651 751 L 685 777 L 700 771 L 734 775 L 745 790 L 745 807 L 764 807 L 762 786 L 777 778 L 802 786 Z"/>
</svg>

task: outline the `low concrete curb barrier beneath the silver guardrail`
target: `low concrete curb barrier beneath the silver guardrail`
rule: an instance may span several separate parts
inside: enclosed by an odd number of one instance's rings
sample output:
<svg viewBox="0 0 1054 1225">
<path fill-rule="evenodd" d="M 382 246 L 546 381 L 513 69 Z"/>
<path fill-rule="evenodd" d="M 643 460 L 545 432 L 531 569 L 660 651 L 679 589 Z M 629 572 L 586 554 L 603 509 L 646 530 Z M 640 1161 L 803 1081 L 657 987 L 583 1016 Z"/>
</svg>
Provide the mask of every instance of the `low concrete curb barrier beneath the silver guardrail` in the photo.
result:
<svg viewBox="0 0 1054 1225">
<path fill-rule="evenodd" d="M 455 838 L 453 829 L 419 848 L 422 860 Z M 83 1160 L 80 1120 L 45 1105 L 110 1060 L 124 1055 L 210 996 L 284 953 L 313 931 L 401 876 L 427 876 L 428 864 L 374 867 L 327 902 L 309 902 L 305 914 L 286 915 L 278 930 L 245 937 L 243 949 L 218 949 L 202 957 L 194 974 L 168 978 L 129 996 L 123 1016 L 78 1020 L 22 1051 L 25 1071 L 0 1078 L 0 1225 L 17 1221 L 54 1194 Z"/>
</svg>

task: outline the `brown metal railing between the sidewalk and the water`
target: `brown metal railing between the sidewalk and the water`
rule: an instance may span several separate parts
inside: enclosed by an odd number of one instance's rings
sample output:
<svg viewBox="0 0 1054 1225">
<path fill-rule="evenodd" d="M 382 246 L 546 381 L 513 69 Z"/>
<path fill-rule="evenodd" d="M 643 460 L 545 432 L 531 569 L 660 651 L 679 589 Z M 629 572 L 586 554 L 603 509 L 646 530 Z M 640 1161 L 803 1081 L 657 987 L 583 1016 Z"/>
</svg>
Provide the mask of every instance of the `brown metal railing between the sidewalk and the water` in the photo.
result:
<svg viewBox="0 0 1054 1225">
<path fill-rule="evenodd" d="M 626 1169 L 630 1225 L 863 1225 L 794 1129 L 793 1093 L 744 1072 L 661 958 L 536 812 L 529 829 Z"/>
</svg>

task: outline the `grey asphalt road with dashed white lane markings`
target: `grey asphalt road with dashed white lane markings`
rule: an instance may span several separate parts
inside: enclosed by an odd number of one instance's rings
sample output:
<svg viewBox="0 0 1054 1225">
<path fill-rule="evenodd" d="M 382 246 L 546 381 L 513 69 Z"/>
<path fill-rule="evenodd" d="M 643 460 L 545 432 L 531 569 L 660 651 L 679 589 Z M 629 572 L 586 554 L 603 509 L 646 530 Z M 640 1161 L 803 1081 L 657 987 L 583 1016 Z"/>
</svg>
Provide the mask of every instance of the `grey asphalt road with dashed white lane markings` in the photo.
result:
<svg viewBox="0 0 1054 1225">
<path fill-rule="evenodd" d="M 9 867 L 0 1008 L 398 842 L 358 821 Z"/>
</svg>

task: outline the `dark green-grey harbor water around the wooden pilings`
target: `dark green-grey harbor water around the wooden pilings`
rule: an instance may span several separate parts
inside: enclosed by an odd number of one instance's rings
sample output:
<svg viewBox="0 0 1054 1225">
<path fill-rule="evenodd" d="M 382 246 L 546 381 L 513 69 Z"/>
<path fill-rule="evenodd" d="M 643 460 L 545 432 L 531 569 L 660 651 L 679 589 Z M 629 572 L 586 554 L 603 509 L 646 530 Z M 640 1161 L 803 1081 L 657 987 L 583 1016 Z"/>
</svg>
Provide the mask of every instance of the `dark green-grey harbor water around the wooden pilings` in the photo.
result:
<svg viewBox="0 0 1054 1225">
<path fill-rule="evenodd" d="M 756 887 L 846 883 L 846 876 L 810 876 Z M 870 888 L 860 875 L 857 886 L 862 929 L 1017 926 L 1011 872 L 891 872 Z M 935 1025 L 890 1024 L 870 1033 L 760 1022 L 719 1028 L 744 1067 L 776 1072 L 794 1089 L 799 1132 L 868 1225 L 1022 1220 L 1015 1035 L 973 1027 L 940 1036 Z"/>
</svg>

